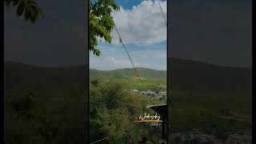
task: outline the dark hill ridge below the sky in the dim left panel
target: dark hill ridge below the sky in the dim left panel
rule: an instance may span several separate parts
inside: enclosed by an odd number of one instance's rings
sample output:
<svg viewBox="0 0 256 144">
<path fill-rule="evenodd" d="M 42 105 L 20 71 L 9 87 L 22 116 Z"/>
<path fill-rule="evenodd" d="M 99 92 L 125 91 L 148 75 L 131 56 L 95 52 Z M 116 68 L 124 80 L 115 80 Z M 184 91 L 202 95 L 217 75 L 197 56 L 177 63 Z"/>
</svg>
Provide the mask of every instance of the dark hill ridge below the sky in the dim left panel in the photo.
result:
<svg viewBox="0 0 256 144">
<path fill-rule="evenodd" d="M 45 95 L 60 95 L 62 89 L 84 90 L 87 83 L 85 66 L 39 67 L 20 62 L 4 62 L 5 90 L 37 90 Z"/>
</svg>

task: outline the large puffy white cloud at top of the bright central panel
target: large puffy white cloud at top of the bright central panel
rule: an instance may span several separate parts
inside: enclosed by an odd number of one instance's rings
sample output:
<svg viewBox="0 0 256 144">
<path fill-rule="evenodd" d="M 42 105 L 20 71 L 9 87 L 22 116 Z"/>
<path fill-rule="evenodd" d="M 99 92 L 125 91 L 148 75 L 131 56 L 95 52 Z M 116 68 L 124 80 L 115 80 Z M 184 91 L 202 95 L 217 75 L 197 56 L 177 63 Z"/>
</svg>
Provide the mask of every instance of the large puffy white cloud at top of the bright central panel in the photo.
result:
<svg viewBox="0 0 256 144">
<path fill-rule="evenodd" d="M 166 16 L 166 1 L 161 2 Z M 157 1 L 143 1 L 131 10 L 114 11 L 115 25 L 125 43 L 137 45 L 151 45 L 166 40 L 166 25 Z M 113 43 L 119 42 L 118 34 L 114 30 Z"/>
</svg>

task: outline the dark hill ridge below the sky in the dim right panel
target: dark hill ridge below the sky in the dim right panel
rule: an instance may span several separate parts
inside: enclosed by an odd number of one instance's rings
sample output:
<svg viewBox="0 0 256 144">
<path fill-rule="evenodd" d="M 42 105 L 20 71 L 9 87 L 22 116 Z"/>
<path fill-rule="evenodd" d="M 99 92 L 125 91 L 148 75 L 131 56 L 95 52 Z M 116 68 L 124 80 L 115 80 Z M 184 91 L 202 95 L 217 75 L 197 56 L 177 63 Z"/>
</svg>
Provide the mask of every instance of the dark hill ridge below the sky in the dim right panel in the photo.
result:
<svg viewBox="0 0 256 144">
<path fill-rule="evenodd" d="M 169 86 L 172 90 L 246 91 L 252 90 L 250 68 L 216 66 L 205 62 L 169 58 Z"/>
</svg>

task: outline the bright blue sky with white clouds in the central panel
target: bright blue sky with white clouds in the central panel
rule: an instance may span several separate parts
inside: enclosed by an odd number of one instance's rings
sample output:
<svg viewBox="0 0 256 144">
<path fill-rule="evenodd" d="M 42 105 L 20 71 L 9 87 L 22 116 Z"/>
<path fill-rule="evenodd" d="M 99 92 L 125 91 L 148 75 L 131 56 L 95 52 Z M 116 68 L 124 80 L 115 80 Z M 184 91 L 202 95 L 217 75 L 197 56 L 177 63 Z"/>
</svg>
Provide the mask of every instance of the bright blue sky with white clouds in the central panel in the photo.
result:
<svg viewBox="0 0 256 144">
<path fill-rule="evenodd" d="M 135 67 L 166 70 L 166 26 L 157 1 L 118 0 L 121 10 L 114 12 L 114 22 Z M 161 6 L 166 14 L 166 2 Z M 100 57 L 90 53 L 90 68 L 114 70 L 132 67 L 130 60 L 112 33 L 113 43 L 100 42 Z"/>
</svg>

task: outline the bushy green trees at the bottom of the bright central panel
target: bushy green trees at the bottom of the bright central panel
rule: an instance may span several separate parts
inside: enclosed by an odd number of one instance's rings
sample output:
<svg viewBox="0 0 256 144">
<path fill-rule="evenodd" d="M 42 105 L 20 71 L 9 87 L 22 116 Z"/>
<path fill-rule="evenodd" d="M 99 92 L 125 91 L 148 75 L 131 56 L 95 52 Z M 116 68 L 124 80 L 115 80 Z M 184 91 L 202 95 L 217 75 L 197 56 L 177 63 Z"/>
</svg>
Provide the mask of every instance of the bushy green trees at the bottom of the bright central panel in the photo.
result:
<svg viewBox="0 0 256 144">
<path fill-rule="evenodd" d="M 104 140 L 104 143 L 125 143 L 128 140 L 139 142 L 143 136 L 150 142 L 161 138 L 162 126 L 150 126 L 150 123 L 140 123 L 131 129 L 139 114 L 155 114 L 146 106 L 152 104 L 146 96 L 130 93 L 126 85 L 112 79 L 99 81 L 90 80 L 90 142 Z M 118 131 L 121 131 L 118 134 Z M 149 137 L 150 135 L 150 137 Z"/>
</svg>

